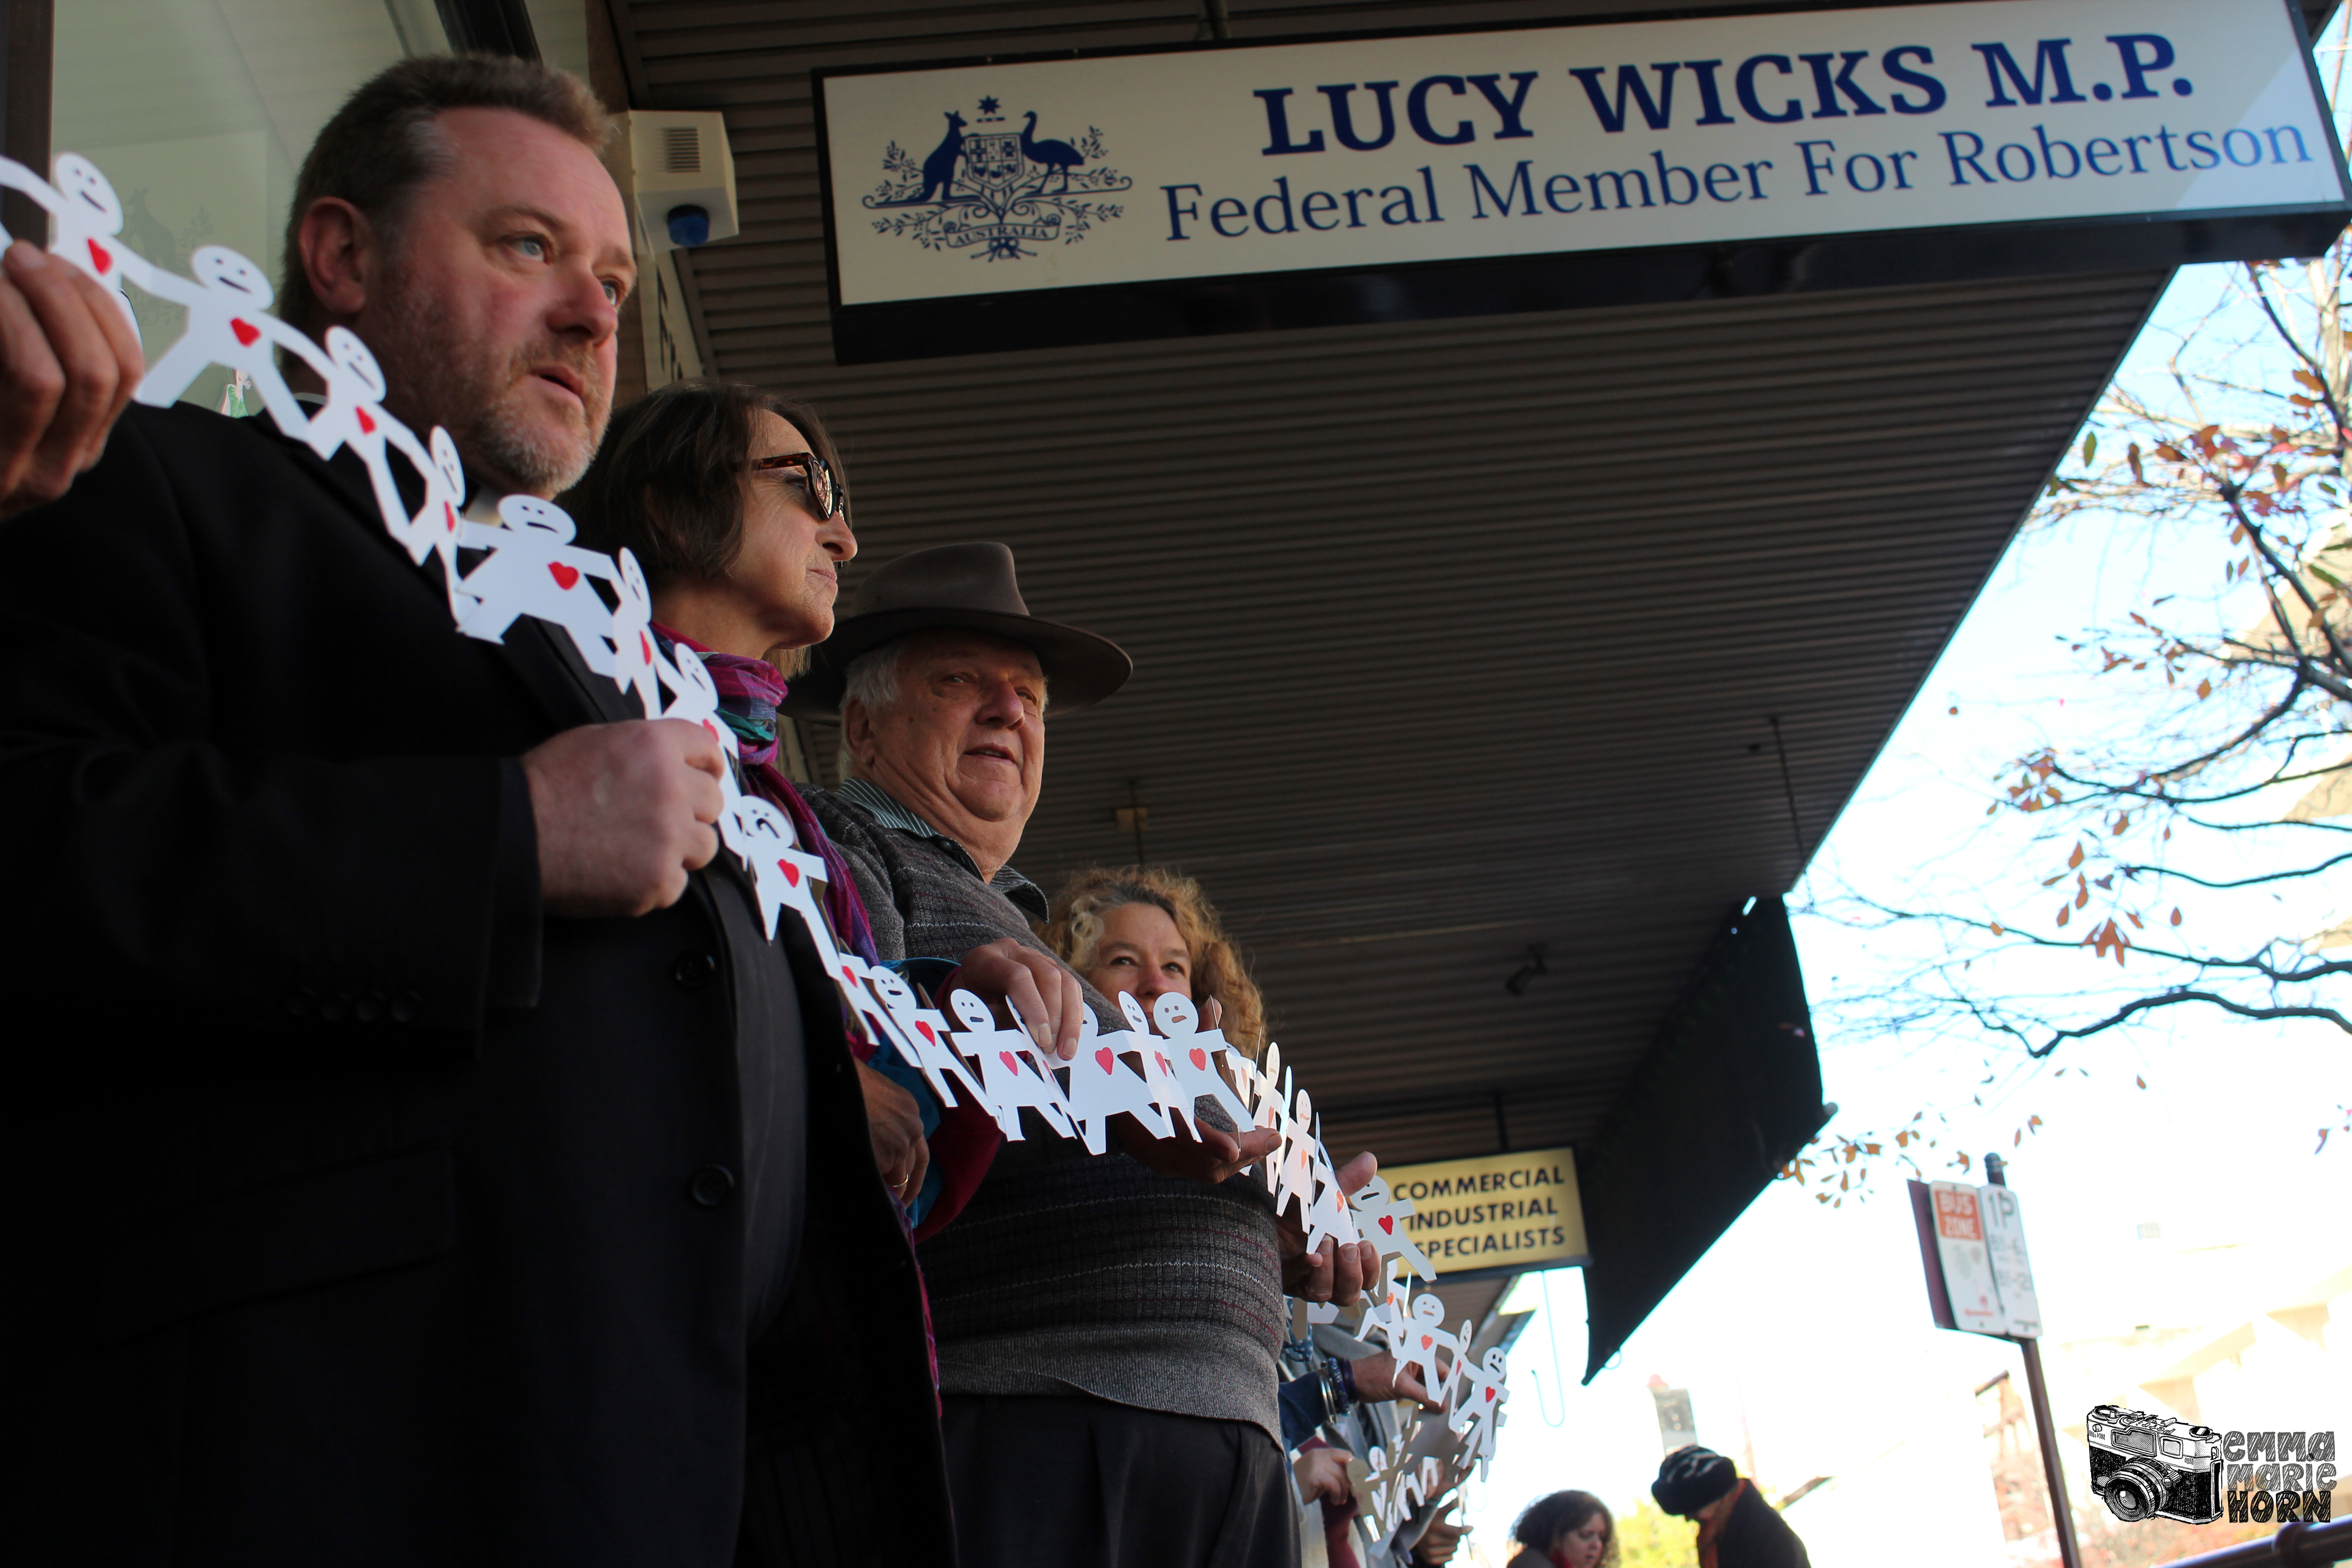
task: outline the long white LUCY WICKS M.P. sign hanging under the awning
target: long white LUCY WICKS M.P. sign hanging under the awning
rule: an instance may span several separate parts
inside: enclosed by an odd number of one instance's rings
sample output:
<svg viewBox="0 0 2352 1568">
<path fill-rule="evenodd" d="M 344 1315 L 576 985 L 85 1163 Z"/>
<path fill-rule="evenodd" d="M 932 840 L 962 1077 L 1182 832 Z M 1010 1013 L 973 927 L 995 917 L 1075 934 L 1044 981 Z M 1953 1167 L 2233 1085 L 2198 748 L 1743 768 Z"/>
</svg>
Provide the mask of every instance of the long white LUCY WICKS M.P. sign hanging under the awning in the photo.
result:
<svg viewBox="0 0 2352 1568">
<path fill-rule="evenodd" d="M 2072 266 L 2312 254 L 2352 209 L 2284 0 L 1061 54 L 823 71 L 816 96 L 844 360 L 1214 331 L 1218 299 L 1254 324 L 1599 303 L 1658 268 L 1543 280 L 1625 252 L 1712 256 L 1668 268 L 1672 299 L 2067 270 L 2084 226 L 2114 233 Z M 1919 240 L 2016 228 L 2039 237 Z M 1456 270 L 1364 282 L 1421 268 Z"/>
</svg>

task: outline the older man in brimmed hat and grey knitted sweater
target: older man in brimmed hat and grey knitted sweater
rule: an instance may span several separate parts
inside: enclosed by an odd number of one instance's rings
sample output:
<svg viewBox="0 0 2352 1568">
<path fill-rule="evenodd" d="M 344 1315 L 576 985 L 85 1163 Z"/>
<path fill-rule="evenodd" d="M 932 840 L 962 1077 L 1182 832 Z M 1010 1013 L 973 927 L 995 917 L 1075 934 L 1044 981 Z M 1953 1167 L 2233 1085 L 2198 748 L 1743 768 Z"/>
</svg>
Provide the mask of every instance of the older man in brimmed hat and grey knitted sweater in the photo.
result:
<svg viewBox="0 0 2352 1568">
<path fill-rule="evenodd" d="M 847 778 L 814 797 L 887 959 L 1042 950 L 1011 867 L 1047 715 L 1117 691 L 1112 642 L 1028 611 L 1004 545 L 901 557 L 835 623 L 788 708 L 840 715 Z M 948 964 L 929 976 L 943 985 Z M 1068 976 L 1105 1027 L 1120 1016 Z M 964 1107 L 960 1107 L 962 1112 Z M 1124 1152 L 985 1117 L 934 1135 L 922 1262 L 967 1568 L 1279 1563 L 1296 1535 L 1275 1403 L 1284 1274 L 1352 1300 L 1369 1248 L 1305 1255 L 1237 1178 L 1272 1133 L 1120 1128 Z M 1108 1507 L 1105 1507 L 1108 1505 Z"/>
</svg>

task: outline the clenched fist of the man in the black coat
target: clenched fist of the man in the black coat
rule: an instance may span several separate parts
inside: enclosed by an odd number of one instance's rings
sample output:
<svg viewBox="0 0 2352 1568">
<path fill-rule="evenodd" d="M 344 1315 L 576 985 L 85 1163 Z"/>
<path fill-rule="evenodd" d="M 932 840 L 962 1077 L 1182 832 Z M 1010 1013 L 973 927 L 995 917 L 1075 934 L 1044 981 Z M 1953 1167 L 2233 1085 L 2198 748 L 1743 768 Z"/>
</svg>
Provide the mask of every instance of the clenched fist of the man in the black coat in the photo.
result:
<svg viewBox="0 0 2352 1568">
<path fill-rule="evenodd" d="M 548 914 L 647 914 L 720 851 L 727 762 L 701 724 L 583 724 L 522 755 Z"/>
</svg>

